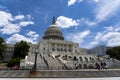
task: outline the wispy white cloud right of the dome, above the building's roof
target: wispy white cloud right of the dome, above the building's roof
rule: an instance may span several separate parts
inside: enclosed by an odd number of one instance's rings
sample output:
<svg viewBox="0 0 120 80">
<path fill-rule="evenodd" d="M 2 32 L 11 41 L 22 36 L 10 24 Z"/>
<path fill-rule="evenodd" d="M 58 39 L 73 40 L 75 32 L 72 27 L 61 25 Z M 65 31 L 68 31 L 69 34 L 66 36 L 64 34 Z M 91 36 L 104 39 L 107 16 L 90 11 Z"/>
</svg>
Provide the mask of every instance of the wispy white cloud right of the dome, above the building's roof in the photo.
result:
<svg viewBox="0 0 120 80">
<path fill-rule="evenodd" d="M 67 40 L 71 40 L 71 41 L 81 44 L 83 42 L 83 39 L 87 37 L 89 34 L 90 34 L 90 31 L 86 30 L 86 31 L 79 32 L 79 33 L 68 34 L 66 38 Z"/>
</svg>

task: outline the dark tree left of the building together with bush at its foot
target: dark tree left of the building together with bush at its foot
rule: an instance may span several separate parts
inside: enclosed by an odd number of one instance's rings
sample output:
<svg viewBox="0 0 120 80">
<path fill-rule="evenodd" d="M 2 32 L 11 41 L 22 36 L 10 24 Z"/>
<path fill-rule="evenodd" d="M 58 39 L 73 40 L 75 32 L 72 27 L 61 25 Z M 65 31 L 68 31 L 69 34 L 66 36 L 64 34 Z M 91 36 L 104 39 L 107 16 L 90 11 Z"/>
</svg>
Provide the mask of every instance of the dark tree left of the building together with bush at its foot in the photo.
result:
<svg viewBox="0 0 120 80">
<path fill-rule="evenodd" d="M 14 46 L 13 58 L 8 62 L 8 67 L 19 66 L 20 60 L 25 58 L 29 51 L 29 45 L 26 41 L 17 42 Z"/>
</svg>

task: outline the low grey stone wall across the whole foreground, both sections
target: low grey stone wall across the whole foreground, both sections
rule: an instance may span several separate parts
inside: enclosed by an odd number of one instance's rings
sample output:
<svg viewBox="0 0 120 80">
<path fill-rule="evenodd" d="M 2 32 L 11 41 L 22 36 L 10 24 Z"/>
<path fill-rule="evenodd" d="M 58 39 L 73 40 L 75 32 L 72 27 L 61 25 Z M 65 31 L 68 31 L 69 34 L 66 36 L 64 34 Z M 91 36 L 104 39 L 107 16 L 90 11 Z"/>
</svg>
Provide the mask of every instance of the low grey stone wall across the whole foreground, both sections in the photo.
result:
<svg viewBox="0 0 120 80">
<path fill-rule="evenodd" d="M 120 77 L 119 69 L 109 70 L 0 70 L 0 78 L 97 78 L 97 77 Z"/>
</svg>

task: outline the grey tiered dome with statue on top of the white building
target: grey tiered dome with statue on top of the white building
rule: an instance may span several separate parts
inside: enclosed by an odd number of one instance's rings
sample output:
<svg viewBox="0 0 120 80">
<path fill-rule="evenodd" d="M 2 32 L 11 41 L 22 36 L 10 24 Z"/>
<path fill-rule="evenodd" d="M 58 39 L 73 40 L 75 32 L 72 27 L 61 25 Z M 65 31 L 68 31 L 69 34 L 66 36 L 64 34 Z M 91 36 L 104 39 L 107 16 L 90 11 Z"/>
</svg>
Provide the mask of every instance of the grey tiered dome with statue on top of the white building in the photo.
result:
<svg viewBox="0 0 120 80">
<path fill-rule="evenodd" d="M 50 25 L 44 33 L 43 39 L 64 40 L 60 28 L 55 23 L 55 17 L 53 17 L 52 25 Z"/>
</svg>

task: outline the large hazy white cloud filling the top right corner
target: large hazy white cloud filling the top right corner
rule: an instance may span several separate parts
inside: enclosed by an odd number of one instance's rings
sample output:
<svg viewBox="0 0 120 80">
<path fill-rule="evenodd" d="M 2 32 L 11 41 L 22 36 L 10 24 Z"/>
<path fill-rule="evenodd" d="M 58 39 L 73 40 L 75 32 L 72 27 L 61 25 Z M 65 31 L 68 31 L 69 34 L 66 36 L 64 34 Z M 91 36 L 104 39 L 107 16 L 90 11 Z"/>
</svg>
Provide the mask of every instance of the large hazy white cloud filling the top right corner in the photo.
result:
<svg viewBox="0 0 120 80">
<path fill-rule="evenodd" d="M 120 0 L 94 0 L 95 17 L 97 22 L 106 20 L 112 15 L 116 14 L 120 9 Z"/>
</svg>

